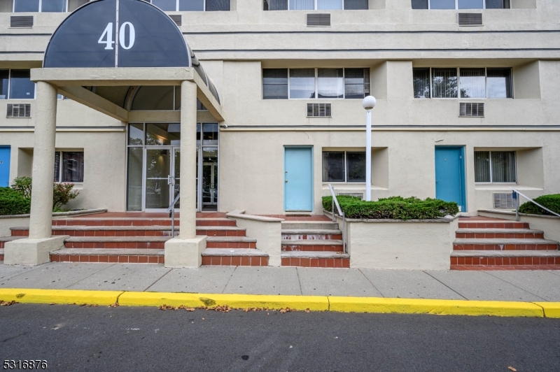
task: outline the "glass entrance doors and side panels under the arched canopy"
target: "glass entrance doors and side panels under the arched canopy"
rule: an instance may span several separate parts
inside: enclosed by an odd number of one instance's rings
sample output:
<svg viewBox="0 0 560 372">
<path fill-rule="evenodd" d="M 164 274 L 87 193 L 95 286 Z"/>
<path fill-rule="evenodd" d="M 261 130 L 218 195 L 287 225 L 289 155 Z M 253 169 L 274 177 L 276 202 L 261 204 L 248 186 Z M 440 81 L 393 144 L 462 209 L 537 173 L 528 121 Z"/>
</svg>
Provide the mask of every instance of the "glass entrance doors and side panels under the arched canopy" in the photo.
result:
<svg viewBox="0 0 560 372">
<path fill-rule="evenodd" d="M 179 123 L 129 124 L 127 210 L 161 212 L 179 194 L 181 176 Z M 197 211 L 218 209 L 218 124 L 197 124 Z M 180 208 L 181 200 L 176 203 Z"/>
</svg>

